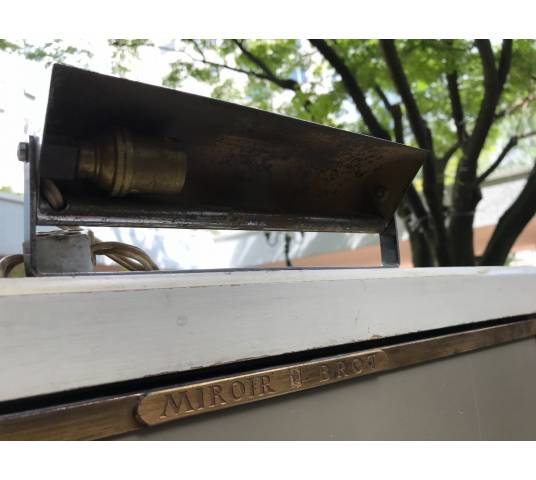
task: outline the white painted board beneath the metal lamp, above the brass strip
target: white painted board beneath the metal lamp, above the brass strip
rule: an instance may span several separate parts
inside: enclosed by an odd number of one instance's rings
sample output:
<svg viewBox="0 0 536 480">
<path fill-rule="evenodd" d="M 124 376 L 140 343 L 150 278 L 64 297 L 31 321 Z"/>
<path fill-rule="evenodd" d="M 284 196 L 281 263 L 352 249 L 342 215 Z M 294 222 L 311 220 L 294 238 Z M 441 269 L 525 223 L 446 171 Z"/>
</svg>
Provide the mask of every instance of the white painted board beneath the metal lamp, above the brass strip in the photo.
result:
<svg viewBox="0 0 536 480">
<path fill-rule="evenodd" d="M 535 268 L 0 280 L 0 400 L 536 312 Z"/>
</svg>

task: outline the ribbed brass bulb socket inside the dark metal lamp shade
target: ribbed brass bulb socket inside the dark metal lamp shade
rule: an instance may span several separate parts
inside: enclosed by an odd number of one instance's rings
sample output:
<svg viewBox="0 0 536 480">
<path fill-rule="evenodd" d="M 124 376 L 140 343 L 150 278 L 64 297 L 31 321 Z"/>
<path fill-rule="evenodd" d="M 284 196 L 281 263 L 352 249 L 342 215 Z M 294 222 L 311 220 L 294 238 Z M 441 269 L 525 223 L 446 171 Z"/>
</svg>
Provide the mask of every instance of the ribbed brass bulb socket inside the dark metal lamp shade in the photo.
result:
<svg viewBox="0 0 536 480">
<path fill-rule="evenodd" d="M 82 145 L 78 177 L 92 180 L 112 197 L 175 195 L 184 186 L 186 166 L 186 155 L 173 142 L 120 131 Z"/>
</svg>

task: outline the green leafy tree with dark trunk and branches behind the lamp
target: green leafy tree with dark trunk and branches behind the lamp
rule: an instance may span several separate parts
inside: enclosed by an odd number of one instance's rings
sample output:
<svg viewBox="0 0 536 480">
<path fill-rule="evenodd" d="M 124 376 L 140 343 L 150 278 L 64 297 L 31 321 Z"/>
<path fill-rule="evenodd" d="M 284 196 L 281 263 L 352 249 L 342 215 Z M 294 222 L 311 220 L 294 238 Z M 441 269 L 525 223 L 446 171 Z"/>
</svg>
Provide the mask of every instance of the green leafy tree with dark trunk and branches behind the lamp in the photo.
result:
<svg viewBox="0 0 536 480">
<path fill-rule="evenodd" d="M 180 88 L 194 78 L 216 98 L 427 149 L 399 209 L 415 265 L 503 264 L 536 211 L 533 40 L 204 39 L 157 47 L 135 39 L 110 45 L 114 71 L 123 76 L 140 49 L 160 48 L 172 57 L 166 86 Z M 52 42 L 25 54 L 54 59 L 55 48 Z M 512 165 L 532 173 L 476 258 L 481 184 Z"/>
</svg>

